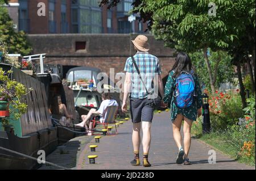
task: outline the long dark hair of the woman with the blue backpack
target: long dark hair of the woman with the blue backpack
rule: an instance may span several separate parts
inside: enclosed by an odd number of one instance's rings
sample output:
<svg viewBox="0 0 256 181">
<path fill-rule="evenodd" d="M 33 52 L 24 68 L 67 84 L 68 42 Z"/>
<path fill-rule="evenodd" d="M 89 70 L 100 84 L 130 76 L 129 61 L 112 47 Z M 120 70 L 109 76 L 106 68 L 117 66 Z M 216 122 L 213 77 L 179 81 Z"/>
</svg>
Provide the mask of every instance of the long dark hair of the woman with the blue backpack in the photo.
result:
<svg viewBox="0 0 256 181">
<path fill-rule="evenodd" d="M 192 67 L 191 59 L 187 53 L 179 52 L 175 58 L 175 64 L 171 71 L 174 71 L 173 77 L 178 77 L 181 71 L 188 71 L 195 73 L 195 69 Z"/>
</svg>

